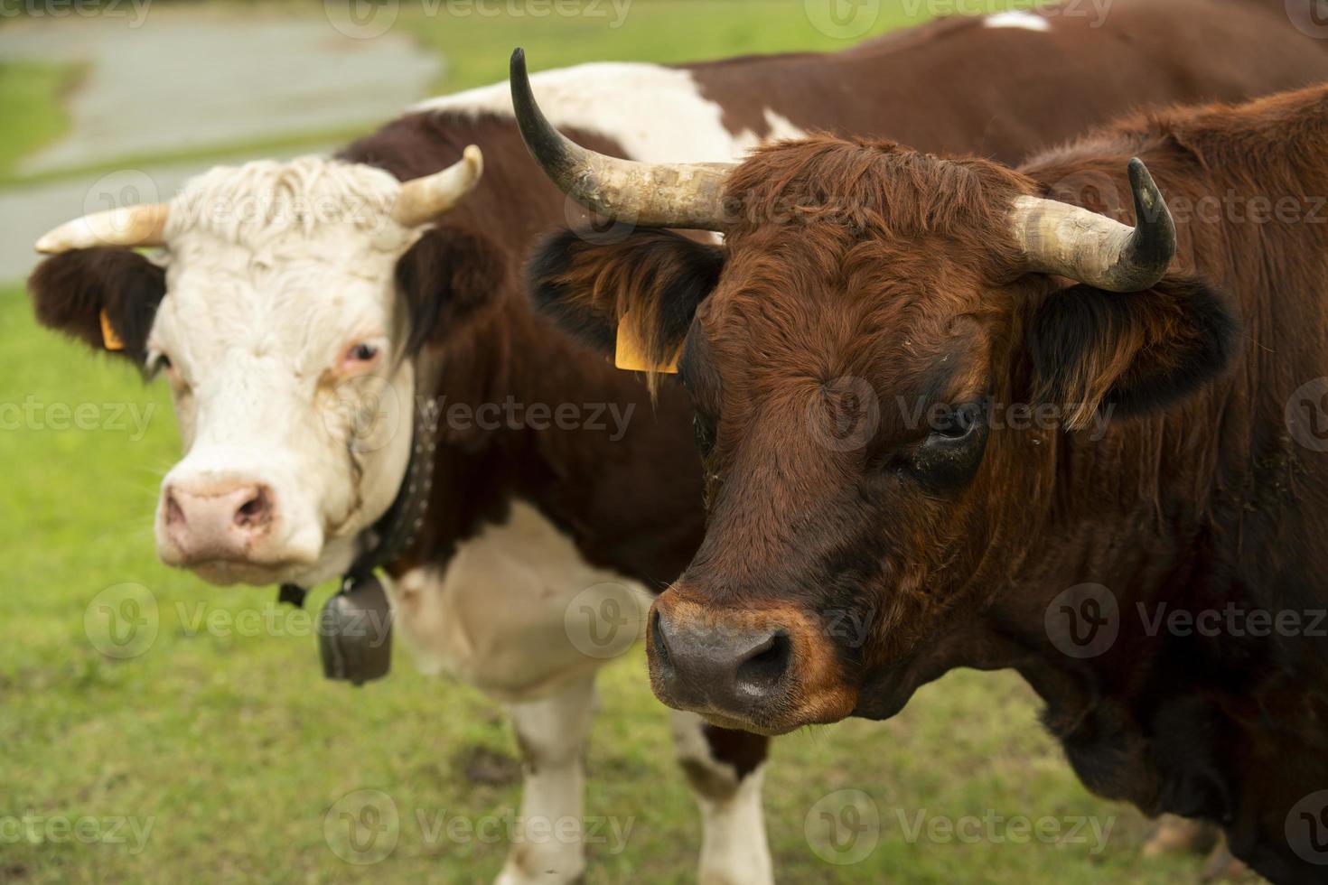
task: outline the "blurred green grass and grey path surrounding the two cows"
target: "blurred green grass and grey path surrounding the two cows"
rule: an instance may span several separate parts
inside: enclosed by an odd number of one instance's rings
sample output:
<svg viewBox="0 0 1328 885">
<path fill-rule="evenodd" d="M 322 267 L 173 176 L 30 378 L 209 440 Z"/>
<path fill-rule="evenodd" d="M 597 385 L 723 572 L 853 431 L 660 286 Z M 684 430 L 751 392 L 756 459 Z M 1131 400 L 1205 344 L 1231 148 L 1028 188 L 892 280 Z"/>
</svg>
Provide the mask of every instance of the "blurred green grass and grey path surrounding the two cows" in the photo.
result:
<svg viewBox="0 0 1328 885">
<path fill-rule="evenodd" d="M 0 417 L 39 415 L 0 427 L 0 882 L 486 882 L 506 843 L 436 824 L 510 815 L 521 785 L 501 706 L 418 675 L 404 650 L 381 682 L 324 681 L 307 614 L 329 588 L 301 618 L 271 588 L 220 590 L 157 563 L 157 484 L 178 452 L 167 394 L 36 326 L 23 279 L 37 235 L 167 199 L 218 162 L 332 150 L 414 101 L 503 78 L 515 45 L 537 69 L 842 49 L 1013 5 L 0 0 Z M 98 600 L 124 600 L 126 584 L 150 590 L 131 654 L 98 620 Z M 695 880 L 700 820 L 643 657 L 600 677 L 586 813 L 631 827 L 624 845 L 590 847 L 588 882 Z M 777 877 L 1197 880 L 1198 858 L 1141 857 L 1147 821 L 1089 796 L 1037 713 L 1015 675 L 963 671 L 891 722 L 778 739 L 765 789 Z M 394 849 L 365 866 L 325 837 L 357 789 L 401 815 Z M 845 795 L 875 816 L 851 852 L 827 852 L 819 809 Z M 1056 819 L 1058 836 L 956 832 L 1021 817 Z M 54 819 L 94 820 L 98 837 L 24 823 Z"/>
</svg>

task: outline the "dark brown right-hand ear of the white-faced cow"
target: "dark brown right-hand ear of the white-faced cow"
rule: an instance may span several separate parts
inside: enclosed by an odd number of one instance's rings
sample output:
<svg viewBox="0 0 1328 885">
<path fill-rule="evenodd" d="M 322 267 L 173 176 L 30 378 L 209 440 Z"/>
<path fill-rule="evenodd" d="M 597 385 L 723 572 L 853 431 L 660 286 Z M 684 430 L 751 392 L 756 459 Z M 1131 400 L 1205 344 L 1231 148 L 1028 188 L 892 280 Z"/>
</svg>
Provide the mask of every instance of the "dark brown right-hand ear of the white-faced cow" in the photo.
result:
<svg viewBox="0 0 1328 885">
<path fill-rule="evenodd" d="M 495 306 L 507 284 L 507 265 L 489 238 L 454 227 L 421 236 L 397 260 L 397 292 L 406 301 L 406 353 L 445 344 Z"/>
</svg>

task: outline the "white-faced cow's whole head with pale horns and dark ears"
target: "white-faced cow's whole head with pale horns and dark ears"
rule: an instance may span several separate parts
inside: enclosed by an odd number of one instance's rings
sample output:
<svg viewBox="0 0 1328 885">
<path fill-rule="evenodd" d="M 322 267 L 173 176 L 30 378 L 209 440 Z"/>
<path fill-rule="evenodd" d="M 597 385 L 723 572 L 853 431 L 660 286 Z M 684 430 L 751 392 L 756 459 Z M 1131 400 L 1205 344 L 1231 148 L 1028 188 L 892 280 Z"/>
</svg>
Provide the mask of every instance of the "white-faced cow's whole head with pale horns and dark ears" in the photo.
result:
<svg viewBox="0 0 1328 885">
<path fill-rule="evenodd" d="M 405 474 L 412 357 L 477 303 L 456 267 L 489 251 L 430 223 L 479 174 L 475 147 L 406 183 L 315 157 L 216 167 L 39 241 L 56 253 L 29 281 L 39 320 L 170 383 L 185 456 L 157 507 L 165 563 L 219 584 L 347 568 Z"/>
</svg>

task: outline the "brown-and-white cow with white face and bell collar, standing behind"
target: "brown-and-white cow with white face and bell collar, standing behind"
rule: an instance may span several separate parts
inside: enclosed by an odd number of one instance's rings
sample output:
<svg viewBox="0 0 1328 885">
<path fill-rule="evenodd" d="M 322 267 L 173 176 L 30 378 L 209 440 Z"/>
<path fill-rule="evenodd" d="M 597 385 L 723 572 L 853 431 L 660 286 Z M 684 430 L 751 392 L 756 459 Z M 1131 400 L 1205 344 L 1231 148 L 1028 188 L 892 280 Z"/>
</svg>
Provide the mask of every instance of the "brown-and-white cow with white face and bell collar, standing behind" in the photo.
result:
<svg viewBox="0 0 1328 885">
<path fill-rule="evenodd" d="M 1170 53 L 1167 73 L 1120 64 L 1122 45 Z M 1328 50 L 1268 4 L 1139 0 L 1105 23 L 959 19 L 838 54 L 586 65 L 535 90 L 582 142 L 648 162 L 728 161 L 827 126 L 1013 162 L 1141 101 L 1324 77 Z M 518 285 L 523 251 L 568 206 L 498 85 L 336 158 L 218 167 L 163 206 L 80 219 L 42 240 L 60 255 L 31 281 L 42 322 L 102 348 L 105 317 L 122 356 L 170 385 L 186 452 L 162 483 L 161 557 L 303 586 L 381 561 L 421 665 L 509 703 L 521 815 L 551 821 L 582 815 L 602 663 L 570 641 L 567 612 L 599 610 L 614 582 L 661 590 L 704 528 L 685 395 L 652 407 Z M 675 730 L 705 817 L 703 880 L 768 881 L 765 739 L 689 713 Z M 583 868 L 575 841 L 526 841 L 501 878 Z"/>
</svg>

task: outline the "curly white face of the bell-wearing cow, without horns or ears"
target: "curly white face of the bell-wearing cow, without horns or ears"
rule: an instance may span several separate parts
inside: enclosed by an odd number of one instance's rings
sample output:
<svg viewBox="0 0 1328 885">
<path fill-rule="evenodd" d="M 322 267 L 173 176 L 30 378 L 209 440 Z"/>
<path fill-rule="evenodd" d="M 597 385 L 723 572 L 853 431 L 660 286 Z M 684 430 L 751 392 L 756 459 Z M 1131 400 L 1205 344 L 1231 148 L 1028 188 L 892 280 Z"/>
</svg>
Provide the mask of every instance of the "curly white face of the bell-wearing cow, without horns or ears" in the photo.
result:
<svg viewBox="0 0 1328 885">
<path fill-rule="evenodd" d="M 218 582 L 325 580 L 396 496 L 413 379 L 394 358 L 393 268 L 418 238 L 389 218 L 398 191 L 381 170 L 305 157 L 214 169 L 171 202 L 147 340 L 150 362 L 170 361 L 186 452 L 162 483 L 166 563 Z M 236 484 L 274 511 L 243 543 L 230 513 L 207 512 L 243 499 Z M 171 521 L 177 491 L 193 524 Z M 199 553 L 212 549 L 226 555 Z"/>
</svg>

